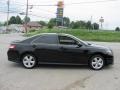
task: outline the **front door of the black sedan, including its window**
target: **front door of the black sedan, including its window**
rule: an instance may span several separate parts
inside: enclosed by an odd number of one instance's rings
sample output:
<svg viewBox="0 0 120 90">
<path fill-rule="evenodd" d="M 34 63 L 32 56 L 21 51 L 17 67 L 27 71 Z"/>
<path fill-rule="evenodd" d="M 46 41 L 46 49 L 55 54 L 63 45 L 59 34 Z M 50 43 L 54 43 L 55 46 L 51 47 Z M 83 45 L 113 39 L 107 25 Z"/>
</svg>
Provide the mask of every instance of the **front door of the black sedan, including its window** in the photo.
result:
<svg viewBox="0 0 120 90">
<path fill-rule="evenodd" d="M 59 36 L 61 62 L 85 64 L 87 59 L 86 46 L 68 36 Z"/>
</svg>

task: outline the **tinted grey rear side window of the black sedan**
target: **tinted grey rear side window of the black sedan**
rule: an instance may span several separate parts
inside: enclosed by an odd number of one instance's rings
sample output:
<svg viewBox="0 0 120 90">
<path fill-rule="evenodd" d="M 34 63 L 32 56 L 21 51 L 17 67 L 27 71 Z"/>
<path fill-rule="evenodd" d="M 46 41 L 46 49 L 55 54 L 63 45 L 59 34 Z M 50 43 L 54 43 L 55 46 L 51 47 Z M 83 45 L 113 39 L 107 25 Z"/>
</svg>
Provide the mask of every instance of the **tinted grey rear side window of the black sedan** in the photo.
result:
<svg viewBox="0 0 120 90">
<path fill-rule="evenodd" d="M 57 35 L 41 35 L 35 39 L 32 43 L 46 43 L 46 44 L 57 44 Z"/>
</svg>

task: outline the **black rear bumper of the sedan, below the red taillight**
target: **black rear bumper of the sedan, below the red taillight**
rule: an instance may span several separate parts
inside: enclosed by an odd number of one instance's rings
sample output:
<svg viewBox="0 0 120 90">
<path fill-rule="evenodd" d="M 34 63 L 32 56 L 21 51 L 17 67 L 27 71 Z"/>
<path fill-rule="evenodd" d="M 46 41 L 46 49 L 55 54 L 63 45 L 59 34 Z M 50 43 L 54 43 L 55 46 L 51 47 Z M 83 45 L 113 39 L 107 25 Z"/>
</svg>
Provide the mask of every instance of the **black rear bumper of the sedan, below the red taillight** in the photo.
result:
<svg viewBox="0 0 120 90">
<path fill-rule="evenodd" d="M 18 51 L 8 50 L 7 55 L 8 55 L 8 61 L 20 63 L 20 55 Z"/>
</svg>

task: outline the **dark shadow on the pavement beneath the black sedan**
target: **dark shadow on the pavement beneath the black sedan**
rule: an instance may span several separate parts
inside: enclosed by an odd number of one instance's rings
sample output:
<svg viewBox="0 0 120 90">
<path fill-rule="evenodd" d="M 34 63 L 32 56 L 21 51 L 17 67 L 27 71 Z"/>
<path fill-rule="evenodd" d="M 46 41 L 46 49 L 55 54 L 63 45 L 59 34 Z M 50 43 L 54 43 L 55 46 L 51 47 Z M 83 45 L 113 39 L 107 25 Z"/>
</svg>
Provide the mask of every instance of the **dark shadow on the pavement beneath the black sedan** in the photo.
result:
<svg viewBox="0 0 120 90">
<path fill-rule="evenodd" d="M 22 68 L 22 69 L 26 69 L 25 67 L 23 67 L 22 64 L 18 64 L 18 63 L 13 63 L 10 65 L 10 67 L 12 68 Z M 51 65 L 51 64 L 39 64 L 36 67 L 34 67 L 33 69 L 80 69 L 80 70 L 92 70 L 90 69 L 90 67 L 88 65 Z M 109 70 L 109 69 L 113 69 L 113 66 L 109 65 L 109 66 L 105 66 L 104 70 Z"/>
</svg>

